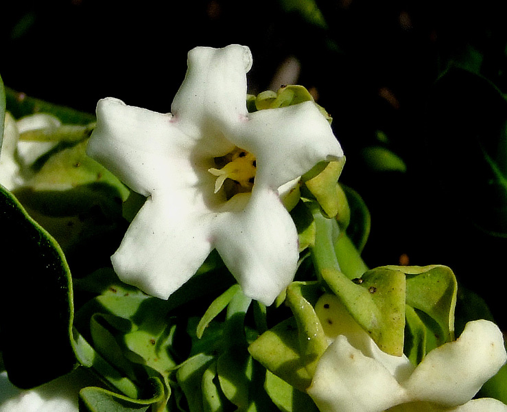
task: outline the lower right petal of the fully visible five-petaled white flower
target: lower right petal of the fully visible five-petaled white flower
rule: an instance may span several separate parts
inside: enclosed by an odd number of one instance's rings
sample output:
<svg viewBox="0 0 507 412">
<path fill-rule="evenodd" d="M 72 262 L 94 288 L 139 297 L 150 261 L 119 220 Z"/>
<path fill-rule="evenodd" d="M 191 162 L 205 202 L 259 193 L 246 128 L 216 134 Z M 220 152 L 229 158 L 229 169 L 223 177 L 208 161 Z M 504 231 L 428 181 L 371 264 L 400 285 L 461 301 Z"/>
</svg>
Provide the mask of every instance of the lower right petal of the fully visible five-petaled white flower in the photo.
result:
<svg viewBox="0 0 507 412">
<path fill-rule="evenodd" d="M 215 247 L 243 292 L 270 305 L 296 273 L 298 234 L 278 192 L 257 190 L 241 211 L 220 214 Z"/>
</svg>

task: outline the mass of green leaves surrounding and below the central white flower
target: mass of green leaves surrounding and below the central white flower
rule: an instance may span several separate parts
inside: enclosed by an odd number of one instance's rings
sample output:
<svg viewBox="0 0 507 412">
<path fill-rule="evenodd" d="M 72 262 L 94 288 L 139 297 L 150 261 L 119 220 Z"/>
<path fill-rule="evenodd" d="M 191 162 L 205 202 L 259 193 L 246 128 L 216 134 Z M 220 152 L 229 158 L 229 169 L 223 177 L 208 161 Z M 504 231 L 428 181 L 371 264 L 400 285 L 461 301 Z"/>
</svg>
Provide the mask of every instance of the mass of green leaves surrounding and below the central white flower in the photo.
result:
<svg viewBox="0 0 507 412">
<path fill-rule="evenodd" d="M 45 106 L 8 96 L 17 115 Z M 283 87 L 248 98 L 248 107 L 307 100 L 306 89 Z M 64 123 L 93 121 L 45 107 Z M 457 286 L 449 268 L 368 270 L 360 258 L 370 217 L 359 194 L 337 183 L 343 162 L 303 176 L 291 211 L 300 264 L 270 308 L 241 293 L 216 253 L 167 301 L 121 283 L 103 258 L 123 235 L 122 213 L 139 205 L 84 155 L 89 127 L 66 129 L 81 130 L 78 137 L 32 136 L 59 143 L 36 163 L 28 189 L 16 197 L 0 189 L 1 227 L 11 240 L 0 278 L 10 291 L 1 301 L 0 342 L 15 385 L 36 387 L 80 367 L 98 377 L 80 392 L 83 411 L 316 411 L 305 389 L 328 345 L 316 308 L 326 293 L 382 350 L 404 352 L 414 364 L 453 339 Z M 42 185 L 55 179 L 71 188 L 55 196 Z M 56 230 L 75 220 L 84 222 L 75 233 Z"/>
</svg>

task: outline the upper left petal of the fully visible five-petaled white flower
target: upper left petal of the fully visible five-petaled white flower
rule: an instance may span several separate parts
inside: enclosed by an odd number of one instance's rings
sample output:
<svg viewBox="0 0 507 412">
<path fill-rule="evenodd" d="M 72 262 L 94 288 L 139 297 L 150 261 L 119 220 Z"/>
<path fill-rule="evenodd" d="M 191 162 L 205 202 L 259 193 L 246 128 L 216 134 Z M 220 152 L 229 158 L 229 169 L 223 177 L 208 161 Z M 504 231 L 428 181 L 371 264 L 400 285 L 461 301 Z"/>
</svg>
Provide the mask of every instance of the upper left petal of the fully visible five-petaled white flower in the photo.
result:
<svg viewBox="0 0 507 412">
<path fill-rule="evenodd" d="M 171 119 L 170 113 L 127 106 L 113 98 L 100 100 L 97 127 L 86 152 L 123 183 L 148 196 L 192 170 L 189 152 L 193 141 Z"/>
</svg>

